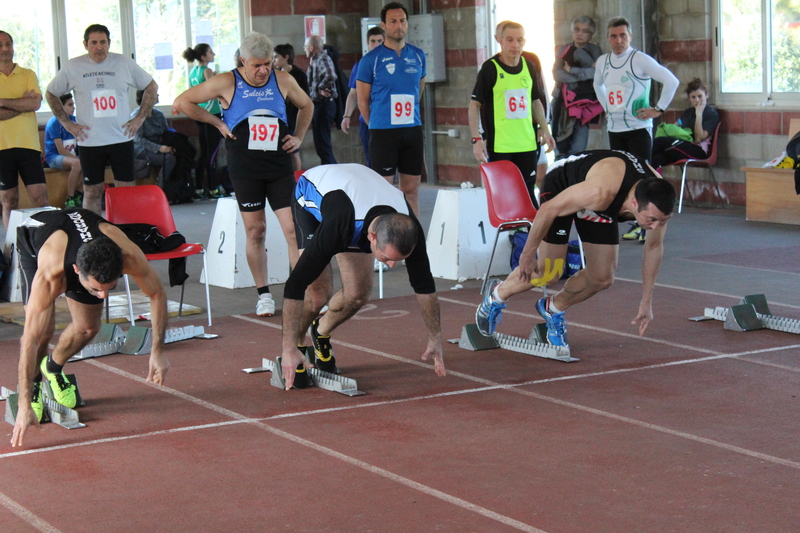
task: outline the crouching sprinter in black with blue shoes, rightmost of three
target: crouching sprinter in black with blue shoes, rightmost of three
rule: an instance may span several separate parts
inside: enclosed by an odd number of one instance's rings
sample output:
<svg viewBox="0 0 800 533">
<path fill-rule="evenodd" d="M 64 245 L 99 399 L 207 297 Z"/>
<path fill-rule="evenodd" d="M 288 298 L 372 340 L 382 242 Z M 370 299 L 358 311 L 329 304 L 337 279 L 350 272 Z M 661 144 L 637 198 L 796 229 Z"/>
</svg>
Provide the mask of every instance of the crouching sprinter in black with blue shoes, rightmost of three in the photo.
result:
<svg viewBox="0 0 800 533">
<path fill-rule="evenodd" d="M 476 322 L 486 336 L 500 323 L 506 300 L 532 284 L 557 282 L 557 260 L 567 253 L 572 223 L 583 241 L 586 268 L 572 276 L 536 309 L 547 322 L 551 344 L 567 346 L 564 311 L 614 282 L 619 252 L 619 220 L 636 220 L 648 232 L 642 259 L 642 300 L 632 324 L 644 335 L 653 319 L 653 287 L 664 254 L 664 233 L 675 205 L 675 189 L 644 159 L 628 152 L 592 150 L 556 161 L 544 178 L 542 207 L 536 214 L 519 266 L 502 283 L 494 280 L 478 307 Z M 539 250 L 538 263 L 536 251 Z"/>
</svg>

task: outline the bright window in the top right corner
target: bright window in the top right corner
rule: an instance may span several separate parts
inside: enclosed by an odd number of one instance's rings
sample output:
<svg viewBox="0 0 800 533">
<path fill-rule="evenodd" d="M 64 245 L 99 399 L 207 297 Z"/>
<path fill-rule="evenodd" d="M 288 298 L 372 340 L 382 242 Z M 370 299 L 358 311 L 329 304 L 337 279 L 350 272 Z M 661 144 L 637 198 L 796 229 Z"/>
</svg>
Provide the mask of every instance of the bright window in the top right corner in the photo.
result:
<svg viewBox="0 0 800 533">
<path fill-rule="evenodd" d="M 729 103 L 795 103 L 800 96 L 800 1 L 720 0 L 719 91 Z"/>
</svg>

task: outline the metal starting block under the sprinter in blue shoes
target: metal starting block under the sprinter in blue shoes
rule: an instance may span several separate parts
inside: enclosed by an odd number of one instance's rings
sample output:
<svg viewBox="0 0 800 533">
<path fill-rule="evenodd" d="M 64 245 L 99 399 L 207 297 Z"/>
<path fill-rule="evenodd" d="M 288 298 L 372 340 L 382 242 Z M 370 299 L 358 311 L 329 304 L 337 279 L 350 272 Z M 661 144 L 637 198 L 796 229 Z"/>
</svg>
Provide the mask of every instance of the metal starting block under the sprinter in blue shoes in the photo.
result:
<svg viewBox="0 0 800 533">
<path fill-rule="evenodd" d="M 544 326 L 544 328 L 541 326 Z M 543 329 L 544 333 L 542 333 Z M 458 347 L 472 351 L 503 348 L 512 352 L 545 359 L 555 359 L 564 363 L 580 361 L 580 359 L 571 356 L 569 346 L 553 346 L 546 342 L 546 338 L 547 326 L 545 324 L 536 324 L 527 339 L 497 332 L 492 337 L 486 337 L 478 331 L 478 326 L 467 324 L 461 329 L 461 339 L 458 340 Z"/>
</svg>

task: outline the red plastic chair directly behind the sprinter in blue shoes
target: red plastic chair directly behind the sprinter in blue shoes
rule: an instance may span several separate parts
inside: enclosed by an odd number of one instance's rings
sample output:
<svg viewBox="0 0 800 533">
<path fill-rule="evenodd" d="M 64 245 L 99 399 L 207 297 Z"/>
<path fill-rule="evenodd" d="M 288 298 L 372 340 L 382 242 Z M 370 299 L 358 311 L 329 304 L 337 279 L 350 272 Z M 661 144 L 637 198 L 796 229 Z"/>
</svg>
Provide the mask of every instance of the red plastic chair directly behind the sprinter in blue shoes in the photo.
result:
<svg viewBox="0 0 800 533">
<path fill-rule="evenodd" d="M 489 257 L 489 266 L 483 277 L 481 294 L 486 290 L 489 272 L 494 261 L 494 252 L 500 233 L 521 227 L 533 226 L 536 208 L 531 202 L 525 180 L 517 165 L 511 161 L 495 161 L 481 164 L 481 180 L 486 188 L 486 202 L 489 206 L 489 222 L 497 228 L 497 235 Z"/>
</svg>

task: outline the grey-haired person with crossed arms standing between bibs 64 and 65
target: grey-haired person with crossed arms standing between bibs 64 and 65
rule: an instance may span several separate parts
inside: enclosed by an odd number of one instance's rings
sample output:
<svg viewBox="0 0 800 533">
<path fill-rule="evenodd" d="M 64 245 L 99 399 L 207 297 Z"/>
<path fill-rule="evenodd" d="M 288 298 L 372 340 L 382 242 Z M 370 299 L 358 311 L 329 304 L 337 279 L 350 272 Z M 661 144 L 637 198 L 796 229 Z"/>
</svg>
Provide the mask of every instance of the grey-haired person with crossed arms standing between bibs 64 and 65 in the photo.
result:
<svg viewBox="0 0 800 533">
<path fill-rule="evenodd" d="M 552 120 L 556 140 L 556 159 L 586 150 L 589 122 L 603 112 L 594 92 L 594 65 L 602 51 L 589 42 L 594 35 L 594 20 L 586 15 L 572 21 L 572 42 L 556 47 L 553 64 Z"/>
</svg>

